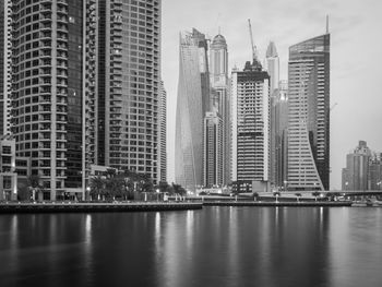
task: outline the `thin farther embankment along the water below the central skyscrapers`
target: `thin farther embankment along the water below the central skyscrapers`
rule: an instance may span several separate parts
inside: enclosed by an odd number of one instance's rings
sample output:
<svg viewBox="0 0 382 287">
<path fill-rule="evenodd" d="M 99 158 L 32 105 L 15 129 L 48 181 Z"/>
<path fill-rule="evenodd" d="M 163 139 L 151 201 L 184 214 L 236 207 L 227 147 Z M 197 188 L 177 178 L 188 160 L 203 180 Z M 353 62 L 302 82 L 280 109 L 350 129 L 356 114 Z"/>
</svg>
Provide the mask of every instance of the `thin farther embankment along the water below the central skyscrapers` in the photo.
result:
<svg viewBox="0 0 382 287">
<path fill-rule="evenodd" d="M 203 206 L 324 206 L 324 207 L 339 207 L 351 206 L 350 201 L 300 201 L 300 202 L 271 202 L 271 201 L 222 201 L 211 202 L 204 201 Z"/>
</svg>

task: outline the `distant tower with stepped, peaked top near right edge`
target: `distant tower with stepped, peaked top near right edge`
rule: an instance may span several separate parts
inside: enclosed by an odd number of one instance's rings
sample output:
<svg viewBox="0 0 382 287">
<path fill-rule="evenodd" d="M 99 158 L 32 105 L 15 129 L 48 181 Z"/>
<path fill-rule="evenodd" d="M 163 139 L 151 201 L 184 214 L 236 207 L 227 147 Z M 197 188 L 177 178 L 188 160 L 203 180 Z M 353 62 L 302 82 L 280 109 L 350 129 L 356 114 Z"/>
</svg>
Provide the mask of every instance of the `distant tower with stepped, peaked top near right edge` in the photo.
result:
<svg viewBox="0 0 382 287">
<path fill-rule="evenodd" d="M 371 151 L 365 141 L 359 141 L 353 153 L 346 155 L 343 168 L 343 190 L 368 190 L 369 160 Z"/>
</svg>

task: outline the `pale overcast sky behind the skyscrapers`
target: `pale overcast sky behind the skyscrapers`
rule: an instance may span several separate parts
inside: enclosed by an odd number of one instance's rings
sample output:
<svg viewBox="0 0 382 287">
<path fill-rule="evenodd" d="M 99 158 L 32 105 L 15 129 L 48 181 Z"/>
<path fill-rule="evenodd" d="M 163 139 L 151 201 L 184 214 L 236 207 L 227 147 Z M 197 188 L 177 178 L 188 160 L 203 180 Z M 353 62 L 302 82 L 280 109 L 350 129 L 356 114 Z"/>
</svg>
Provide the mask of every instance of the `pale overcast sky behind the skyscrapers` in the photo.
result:
<svg viewBox="0 0 382 287">
<path fill-rule="evenodd" d="M 276 45 L 280 80 L 288 47 L 331 33 L 331 189 L 341 189 L 346 154 L 359 140 L 382 152 L 382 1 L 380 0 L 163 0 L 162 75 L 167 91 L 168 180 L 174 181 L 179 33 L 195 27 L 228 45 L 229 71 L 251 59 L 248 19 L 260 59 Z M 337 105 L 335 105 L 337 104 Z"/>
</svg>

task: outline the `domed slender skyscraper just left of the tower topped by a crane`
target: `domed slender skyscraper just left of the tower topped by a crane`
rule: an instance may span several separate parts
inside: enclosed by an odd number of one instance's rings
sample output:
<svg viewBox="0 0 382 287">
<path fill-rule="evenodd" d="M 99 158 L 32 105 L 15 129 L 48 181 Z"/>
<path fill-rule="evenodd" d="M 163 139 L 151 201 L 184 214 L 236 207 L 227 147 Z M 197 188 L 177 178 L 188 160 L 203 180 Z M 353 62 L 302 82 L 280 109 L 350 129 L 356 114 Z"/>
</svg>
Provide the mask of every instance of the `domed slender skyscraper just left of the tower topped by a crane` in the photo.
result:
<svg viewBox="0 0 382 287">
<path fill-rule="evenodd" d="M 218 174 L 223 175 L 222 183 L 227 184 L 230 174 L 230 105 L 228 83 L 228 49 L 222 34 L 214 37 L 210 46 L 210 79 L 212 86 L 212 105 L 217 110 L 223 123 L 223 158 Z"/>
</svg>

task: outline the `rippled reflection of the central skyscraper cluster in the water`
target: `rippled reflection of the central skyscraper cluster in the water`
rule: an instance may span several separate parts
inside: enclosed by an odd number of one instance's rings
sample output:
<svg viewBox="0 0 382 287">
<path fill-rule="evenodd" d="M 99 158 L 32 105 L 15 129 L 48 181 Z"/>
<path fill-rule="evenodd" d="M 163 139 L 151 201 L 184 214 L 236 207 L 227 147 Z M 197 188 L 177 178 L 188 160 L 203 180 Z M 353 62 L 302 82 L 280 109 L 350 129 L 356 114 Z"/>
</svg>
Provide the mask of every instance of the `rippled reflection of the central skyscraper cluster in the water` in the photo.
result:
<svg viewBox="0 0 382 287">
<path fill-rule="evenodd" d="M 166 216 L 163 250 L 155 251 L 163 286 L 327 283 L 326 208 L 213 207 L 200 215 Z"/>
</svg>

